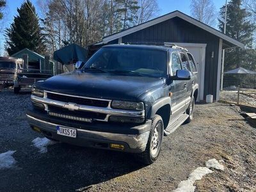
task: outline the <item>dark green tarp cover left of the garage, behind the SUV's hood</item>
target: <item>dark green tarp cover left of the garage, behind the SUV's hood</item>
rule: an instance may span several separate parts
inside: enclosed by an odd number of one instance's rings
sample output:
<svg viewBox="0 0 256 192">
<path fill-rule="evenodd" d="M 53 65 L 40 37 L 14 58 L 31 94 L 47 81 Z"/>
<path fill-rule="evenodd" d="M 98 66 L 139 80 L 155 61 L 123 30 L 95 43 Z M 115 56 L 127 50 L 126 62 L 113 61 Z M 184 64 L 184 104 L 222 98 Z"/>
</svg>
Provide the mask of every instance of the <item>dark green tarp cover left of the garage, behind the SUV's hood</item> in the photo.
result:
<svg viewBox="0 0 256 192">
<path fill-rule="evenodd" d="M 53 59 L 62 64 L 87 61 L 87 50 L 77 44 L 67 45 L 53 53 Z"/>
</svg>

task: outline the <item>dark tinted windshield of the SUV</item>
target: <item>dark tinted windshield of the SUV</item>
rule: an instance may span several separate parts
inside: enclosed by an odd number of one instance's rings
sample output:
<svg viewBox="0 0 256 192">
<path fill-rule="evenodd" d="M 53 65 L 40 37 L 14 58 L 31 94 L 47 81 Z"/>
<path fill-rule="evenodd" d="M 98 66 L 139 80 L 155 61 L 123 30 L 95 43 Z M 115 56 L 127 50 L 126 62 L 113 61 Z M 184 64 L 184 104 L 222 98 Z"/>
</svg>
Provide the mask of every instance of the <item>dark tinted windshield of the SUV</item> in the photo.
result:
<svg viewBox="0 0 256 192">
<path fill-rule="evenodd" d="M 166 63 L 166 51 L 105 47 L 97 51 L 82 70 L 114 72 L 127 76 L 165 77 Z"/>
</svg>

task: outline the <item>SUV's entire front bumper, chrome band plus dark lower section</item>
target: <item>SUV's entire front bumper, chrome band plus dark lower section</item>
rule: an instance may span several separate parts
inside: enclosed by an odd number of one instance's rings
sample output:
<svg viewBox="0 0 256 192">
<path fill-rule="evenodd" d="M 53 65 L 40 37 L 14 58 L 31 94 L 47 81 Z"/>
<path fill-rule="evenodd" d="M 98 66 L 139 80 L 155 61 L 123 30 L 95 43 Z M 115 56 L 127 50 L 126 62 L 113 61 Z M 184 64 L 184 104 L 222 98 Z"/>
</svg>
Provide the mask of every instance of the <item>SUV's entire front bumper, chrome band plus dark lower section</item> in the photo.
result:
<svg viewBox="0 0 256 192">
<path fill-rule="evenodd" d="M 38 116 L 31 115 L 31 113 L 27 114 L 27 118 L 29 125 L 32 128 L 39 128 L 43 134 L 55 140 L 62 141 L 64 143 L 80 145 L 83 147 L 104 148 L 108 150 L 118 150 L 115 148 L 110 148 L 110 144 L 119 144 L 124 145 L 124 150 L 118 151 L 132 153 L 140 153 L 145 150 L 151 127 L 151 120 L 148 120 L 143 125 L 130 127 L 130 133 L 129 130 L 126 130 L 125 132 L 113 131 L 113 127 L 111 127 L 111 132 L 106 132 L 107 129 L 104 129 L 102 131 L 99 131 L 99 129 L 97 131 L 93 131 L 92 129 L 86 129 L 86 127 L 84 126 L 81 127 L 81 129 L 77 128 L 76 126 L 66 126 L 60 123 L 56 123 L 52 120 L 38 118 Z M 72 129 L 75 128 L 77 130 L 77 137 L 69 138 L 67 136 L 61 136 L 57 134 L 57 125 L 61 125 L 61 127 L 67 127 Z M 121 127 L 124 127 L 122 124 L 120 124 L 119 126 L 120 129 L 122 129 Z M 134 130 L 137 131 L 138 134 L 132 134 L 134 133 Z"/>
</svg>

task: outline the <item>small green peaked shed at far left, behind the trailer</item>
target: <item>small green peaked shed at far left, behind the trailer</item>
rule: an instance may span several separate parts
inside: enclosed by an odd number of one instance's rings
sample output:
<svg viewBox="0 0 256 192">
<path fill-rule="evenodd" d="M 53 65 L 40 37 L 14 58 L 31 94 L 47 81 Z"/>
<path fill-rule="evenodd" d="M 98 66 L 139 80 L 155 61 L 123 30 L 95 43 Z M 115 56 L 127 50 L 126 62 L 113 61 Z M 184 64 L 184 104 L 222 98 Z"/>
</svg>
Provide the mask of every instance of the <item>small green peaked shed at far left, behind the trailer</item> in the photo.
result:
<svg viewBox="0 0 256 192">
<path fill-rule="evenodd" d="M 53 72 L 54 62 L 49 60 L 49 56 L 42 56 L 41 54 L 25 48 L 15 54 L 12 54 L 12 57 L 24 58 L 24 55 L 28 55 L 29 68 L 37 70 L 52 70 Z"/>
</svg>

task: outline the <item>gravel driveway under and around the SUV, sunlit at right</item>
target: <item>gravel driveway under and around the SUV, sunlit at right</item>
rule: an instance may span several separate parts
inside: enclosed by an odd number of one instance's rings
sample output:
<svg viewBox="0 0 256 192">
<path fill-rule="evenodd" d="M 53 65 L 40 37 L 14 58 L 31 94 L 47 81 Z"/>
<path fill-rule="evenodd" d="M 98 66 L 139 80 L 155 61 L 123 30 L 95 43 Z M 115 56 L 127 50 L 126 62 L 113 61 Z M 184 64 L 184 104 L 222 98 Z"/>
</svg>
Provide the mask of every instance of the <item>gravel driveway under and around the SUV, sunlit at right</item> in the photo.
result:
<svg viewBox="0 0 256 192">
<path fill-rule="evenodd" d="M 0 154 L 16 150 L 14 168 L 0 170 L 0 191 L 172 191 L 205 161 L 221 160 L 195 183 L 196 191 L 256 191 L 256 129 L 238 109 L 226 104 L 197 104 L 195 119 L 168 137 L 157 162 L 141 166 L 131 154 L 65 143 L 41 154 L 31 142 L 25 111 L 29 93 L 0 92 Z"/>
</svg>

